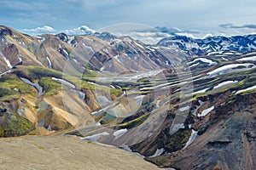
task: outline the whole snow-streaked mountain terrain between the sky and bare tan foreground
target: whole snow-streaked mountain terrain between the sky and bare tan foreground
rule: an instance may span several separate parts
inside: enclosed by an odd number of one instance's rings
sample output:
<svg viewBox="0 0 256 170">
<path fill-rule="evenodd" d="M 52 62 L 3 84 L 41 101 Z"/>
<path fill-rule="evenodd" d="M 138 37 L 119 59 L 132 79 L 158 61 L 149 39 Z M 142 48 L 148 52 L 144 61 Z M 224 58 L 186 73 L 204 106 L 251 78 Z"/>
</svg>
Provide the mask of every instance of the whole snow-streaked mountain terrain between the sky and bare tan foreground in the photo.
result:
<svg viewBox="0 0 256 170">
<path fill-rule="evenodd" d="M 68 133 L 175 169 L 256 167 L 253 35 L 0 36 L 0 136 Z"/>
</svg>

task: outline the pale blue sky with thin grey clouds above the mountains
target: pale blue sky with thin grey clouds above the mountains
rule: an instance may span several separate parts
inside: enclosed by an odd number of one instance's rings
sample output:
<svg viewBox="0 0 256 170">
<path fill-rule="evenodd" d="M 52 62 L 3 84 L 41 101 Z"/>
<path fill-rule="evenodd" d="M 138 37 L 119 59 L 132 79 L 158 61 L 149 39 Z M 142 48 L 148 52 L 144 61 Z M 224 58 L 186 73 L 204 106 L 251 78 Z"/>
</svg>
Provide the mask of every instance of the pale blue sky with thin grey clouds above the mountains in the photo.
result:
<svg viewBox="0 0 256 170">
<path fill-rule="evenodd" d="M 256 32 L 255 0 L 1 0 L 1 25 L 40 33 L 121 23 L 209 33 Z"/>
</svg>

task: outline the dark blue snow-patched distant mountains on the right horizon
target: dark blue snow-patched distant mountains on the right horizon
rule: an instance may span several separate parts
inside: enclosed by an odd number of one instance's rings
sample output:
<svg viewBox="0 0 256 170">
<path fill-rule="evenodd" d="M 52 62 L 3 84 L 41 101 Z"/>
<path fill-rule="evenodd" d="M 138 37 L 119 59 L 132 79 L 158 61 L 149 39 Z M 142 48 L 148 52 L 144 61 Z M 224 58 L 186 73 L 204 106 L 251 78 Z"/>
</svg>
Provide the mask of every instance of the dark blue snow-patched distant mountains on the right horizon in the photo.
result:
<svg viewBox="0 0 256 170">
<path fill-rule="evenodd" d="M 235 37 L 207 37 L 193 39 L 191 37 L 166 37 L 157 46 L 179 48 L 189 55 L 207 55 L 213 52 L 247 53 L 256 49 L 256 35 Z"/>
</svg>

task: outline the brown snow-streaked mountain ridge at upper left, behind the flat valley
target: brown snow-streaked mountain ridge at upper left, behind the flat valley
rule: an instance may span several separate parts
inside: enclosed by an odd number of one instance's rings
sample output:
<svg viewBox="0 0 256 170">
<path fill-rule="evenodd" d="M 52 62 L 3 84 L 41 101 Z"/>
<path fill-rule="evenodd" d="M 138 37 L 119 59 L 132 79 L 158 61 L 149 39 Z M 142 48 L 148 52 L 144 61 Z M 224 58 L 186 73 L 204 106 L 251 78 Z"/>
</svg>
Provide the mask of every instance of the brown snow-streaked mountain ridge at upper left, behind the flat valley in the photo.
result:
<svg viewBox="0 0 256 170">
<path fill-rule="evenodd" d="M 96 36 L 41 35 L 30 37 L 20 34 L 8 27 L 1 26 L 2 37 L 1 71 L 16 65 L 22 60 L 23 65 L 43 66 L 62 71 L 67 59 L 73 62 L 74 69 L 84 67 L 84 62 L 95 70 L 152 71 L 159 68 L 170 68 L 171 59 L 166 58 L 166 50 L 151 48 L 131 37 L 111 37 L 108 33 Z M 97 37 L 105 37 L 103 39 Z M 173 52 L 183 59 L 187 56 Z"/>
</svg>

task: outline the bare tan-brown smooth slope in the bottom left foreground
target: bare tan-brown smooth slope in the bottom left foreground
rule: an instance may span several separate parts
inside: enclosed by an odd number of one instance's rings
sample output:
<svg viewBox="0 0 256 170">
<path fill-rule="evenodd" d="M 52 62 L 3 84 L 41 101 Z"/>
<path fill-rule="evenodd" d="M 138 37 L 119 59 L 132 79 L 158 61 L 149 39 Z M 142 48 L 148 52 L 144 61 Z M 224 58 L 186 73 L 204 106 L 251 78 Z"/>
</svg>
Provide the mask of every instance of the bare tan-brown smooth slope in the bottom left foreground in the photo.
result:
<svg viewBox="0 0 256 170">
<path fill-rule="evenodd" d="M 0 139 L 0 169 L 159 169 L 125 150 L 74 136 Z"/>
</svg>

